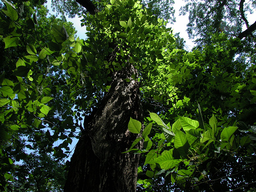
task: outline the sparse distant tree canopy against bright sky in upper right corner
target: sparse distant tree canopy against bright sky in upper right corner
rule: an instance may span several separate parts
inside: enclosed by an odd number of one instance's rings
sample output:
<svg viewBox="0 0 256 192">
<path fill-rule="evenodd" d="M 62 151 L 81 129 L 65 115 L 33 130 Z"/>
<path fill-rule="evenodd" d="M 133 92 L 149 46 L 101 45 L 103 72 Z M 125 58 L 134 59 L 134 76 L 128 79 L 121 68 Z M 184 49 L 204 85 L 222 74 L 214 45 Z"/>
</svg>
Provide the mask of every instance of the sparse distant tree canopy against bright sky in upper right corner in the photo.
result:
<svg viewBox="0 0 256 192">
<path fill-rule="evenodd" d="M 187 32 L 195 38 L 198 48 L 211 44 L 212 34 L 225 33 L 229 37 L 239 37 L 241 46 L 236 60 L 255 64 L 255 22 L 249 23 L 249 15 L 255 11 L 255 2 L 244 0 L 190 0 L 180 9 L 180 14 L 189 13 Z M 241 36 L 249 30 L 246 36 Z M 244 38 L 245 37 L 245 38 Z"/>
</svg>

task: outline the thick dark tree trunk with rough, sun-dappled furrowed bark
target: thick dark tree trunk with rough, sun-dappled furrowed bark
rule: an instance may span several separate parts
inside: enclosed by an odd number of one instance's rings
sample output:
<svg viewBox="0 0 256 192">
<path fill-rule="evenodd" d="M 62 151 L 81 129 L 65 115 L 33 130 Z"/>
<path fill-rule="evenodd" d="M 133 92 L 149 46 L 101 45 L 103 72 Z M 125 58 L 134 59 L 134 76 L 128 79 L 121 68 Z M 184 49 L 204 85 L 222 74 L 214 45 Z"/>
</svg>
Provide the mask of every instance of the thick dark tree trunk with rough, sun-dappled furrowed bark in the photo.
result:
<svg viewBox="0 0 256 192">
<path fill-rule="evenodd" d="M 135 72 L 130 65 L 113 74 L 109 92 L 76 145 L 65 192 L 136 191 L 139 155 L 122 154 L 138 137 L 128 131 L 130 117 L 143 122 L 139 83 L 123 80 Z"/>
</svg>

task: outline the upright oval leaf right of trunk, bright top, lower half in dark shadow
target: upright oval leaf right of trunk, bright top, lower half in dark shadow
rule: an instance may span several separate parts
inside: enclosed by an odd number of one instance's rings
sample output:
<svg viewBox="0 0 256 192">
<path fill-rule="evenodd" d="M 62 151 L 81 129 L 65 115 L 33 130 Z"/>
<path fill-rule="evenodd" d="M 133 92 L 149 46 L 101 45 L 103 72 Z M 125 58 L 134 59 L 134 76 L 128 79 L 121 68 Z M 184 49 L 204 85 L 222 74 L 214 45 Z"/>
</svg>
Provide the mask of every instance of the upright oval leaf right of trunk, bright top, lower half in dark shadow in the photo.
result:
<svg viewBox="0 0 256 192">
<path fill-rule="evenodd" d="M 188 139 L 182 131 L 178 130 L 174 137 L 174 147 L 178 149 L 180 155 L 187 156 L 189 144 Z"/>
</svg>

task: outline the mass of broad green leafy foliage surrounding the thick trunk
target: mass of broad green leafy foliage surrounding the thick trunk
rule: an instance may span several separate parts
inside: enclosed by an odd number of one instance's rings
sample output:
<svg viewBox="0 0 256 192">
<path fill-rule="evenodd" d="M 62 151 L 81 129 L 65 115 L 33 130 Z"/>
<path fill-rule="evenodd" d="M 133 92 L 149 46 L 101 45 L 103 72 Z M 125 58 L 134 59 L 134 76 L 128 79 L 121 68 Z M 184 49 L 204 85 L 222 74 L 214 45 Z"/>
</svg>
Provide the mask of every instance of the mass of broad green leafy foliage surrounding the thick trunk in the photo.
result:
<svg viewBox="0 0 256 192">
<path fill-rule="evenodd" d="M 108 3 L 96 15 L 80 16 L 87 39 L 53 25 L 51 42 L 39 44 L 36 37 L 37 46 L 26 45 L 26 55 L 15 62 L 16 81 L 0 76 L 1 190 L 59 190 L 68 161 L 51 159 L 68 157 L 72 140 L 82 134 L 81 121 L 115 81 L 112 74 L 131 64 L 137 74 L 123 81 L 140 82 L 143 107 L 152 111 L 145 128 L 135 119 L 128 124 L 134 134 L 143 130 L 129 150 L 143 156 L 139 190 L 215 190 L 219 181 L 228 182 L 228 190 L 247 189 L 243 182 L 252 187 L 254 178 L 245 170 L 253 172 L 255 164 L 256 78 L 253 65 L 234 60 L 240 41 L 214 34 L 211 44 L 186 52 L 150 7 L 132 0 Z M 0 31 L 8 30 L 4 43 L 11 49 L 24 34 L 33 37 L 38 21 L 5 5 Z M 141 140 L 144 149 L 136 149 Z M 28 166 L 22 174 L 16 172 L 20 160 Z"/>
</svg>

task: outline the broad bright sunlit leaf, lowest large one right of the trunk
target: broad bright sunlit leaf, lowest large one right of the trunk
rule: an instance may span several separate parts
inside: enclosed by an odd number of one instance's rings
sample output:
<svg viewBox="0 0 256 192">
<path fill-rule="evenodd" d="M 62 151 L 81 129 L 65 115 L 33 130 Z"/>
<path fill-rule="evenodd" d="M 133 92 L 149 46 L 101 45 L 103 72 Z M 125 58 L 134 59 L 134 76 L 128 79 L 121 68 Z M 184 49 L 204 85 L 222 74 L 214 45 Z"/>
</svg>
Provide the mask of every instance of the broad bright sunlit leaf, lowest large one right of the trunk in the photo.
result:
<svg viewBox="0 0 256 192">
<path fill-rule="evenodd" d="M 176 167 L 181 162 L 182 159 L 174 159 L 172 157 L 172 150 L 173 149 L 167 152 L 165 151 L 165 153 L 163 152 L 163 155 L 154 159 L 154 163 L 159 164 L 161 169 L 164 170 Z"/>
</svg>

